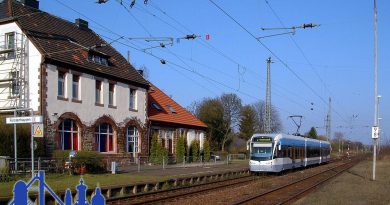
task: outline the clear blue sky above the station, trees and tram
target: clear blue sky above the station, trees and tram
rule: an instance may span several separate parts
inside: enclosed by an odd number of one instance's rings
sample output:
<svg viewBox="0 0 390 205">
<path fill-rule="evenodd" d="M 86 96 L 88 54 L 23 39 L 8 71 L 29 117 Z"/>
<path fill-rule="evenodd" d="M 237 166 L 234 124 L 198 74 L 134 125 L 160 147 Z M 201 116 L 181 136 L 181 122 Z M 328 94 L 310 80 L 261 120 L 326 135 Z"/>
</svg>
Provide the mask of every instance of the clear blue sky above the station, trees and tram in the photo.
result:
<svg viewBox="0 0 390 205">
<path fill-rule="evenodd" d="M 272 104 L 284 132 L 294 132 L 289 115 L 303 115 L 301 132 L 324 134 L 326 102 L 332 98 L 332 132 L 370 144 L 374 122 L 373 0 L 246 0 L 214 2 L 254 37 L 286 32 L 260 28 L 321 24 L 295 35 L 261 40 L 263 45 L 209 0 L 41 0 L 40 8 L 69 21 L 83 18 L 131 63 L 145 66 L 149 80 L 182 106 L 205 97 L 236 93 L 244 104 L 265 99 L 266 59 L 272 57 Z M 390 2 L 377 0 L 381 125 L 390 134 Z M 180 40 L 187 34 L 201 37 Z M 206 35 L 210 39 L 206 40 Z M 173 45 L 153 48 L 172 37 Z M 386 38 L 387 37 L 387 38 Z M 168 43 L 164 41 L 165 43 Z M 143 52 L 144 51 L 144 52 Z M 274 55 L 272 55 L 270 53 Z M 145 53 L 145 52 L 148 52 Z M 161 64 L 160 59 L 166 60 Z M 313 109 L 311 109 L 313 108 Z"/>
</svg>

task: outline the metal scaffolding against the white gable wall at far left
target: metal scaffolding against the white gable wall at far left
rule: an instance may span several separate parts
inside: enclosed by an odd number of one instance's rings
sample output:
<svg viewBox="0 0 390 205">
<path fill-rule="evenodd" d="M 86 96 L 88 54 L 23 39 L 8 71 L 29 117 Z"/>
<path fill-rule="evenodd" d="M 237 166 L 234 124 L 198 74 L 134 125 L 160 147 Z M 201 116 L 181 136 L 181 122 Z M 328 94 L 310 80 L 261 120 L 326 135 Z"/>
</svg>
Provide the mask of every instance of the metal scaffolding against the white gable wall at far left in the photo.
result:
<svg viewBox="0 0 390 205">
<path fill-rule="evenodd" d="M 27 37 L 0 35 L 0 110 L 29 107 Z"/>
</svg>

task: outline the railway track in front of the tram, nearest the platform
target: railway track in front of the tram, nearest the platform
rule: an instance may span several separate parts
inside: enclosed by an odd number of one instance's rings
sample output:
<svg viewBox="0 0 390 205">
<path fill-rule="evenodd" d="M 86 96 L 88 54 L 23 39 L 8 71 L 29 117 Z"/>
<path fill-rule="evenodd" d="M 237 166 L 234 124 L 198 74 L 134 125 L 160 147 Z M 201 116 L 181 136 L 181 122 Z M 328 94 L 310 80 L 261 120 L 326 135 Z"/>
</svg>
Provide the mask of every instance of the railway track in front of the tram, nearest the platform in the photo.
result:
<svg viewBox="0 0 390 205">
<path fill-rule="evenodd" d="M 224 181 L 208 182 L 203 184 L 192 185 L 188 187 L 177 187 L 167 190 L 159 190 L 154 192 L 147 192 L 137 195 L 116 197 L 107 200 L 106 204 L 152 204 L 161 203 L 164 201 L 174 200 L 175 198 L 182 198 L 186 196 L 201 194 L 210 190 L 223 189 L 228 187 L 239 186 L 241 184 L 248 184 L 264 176 L 244 176 Z"/>
</svg>

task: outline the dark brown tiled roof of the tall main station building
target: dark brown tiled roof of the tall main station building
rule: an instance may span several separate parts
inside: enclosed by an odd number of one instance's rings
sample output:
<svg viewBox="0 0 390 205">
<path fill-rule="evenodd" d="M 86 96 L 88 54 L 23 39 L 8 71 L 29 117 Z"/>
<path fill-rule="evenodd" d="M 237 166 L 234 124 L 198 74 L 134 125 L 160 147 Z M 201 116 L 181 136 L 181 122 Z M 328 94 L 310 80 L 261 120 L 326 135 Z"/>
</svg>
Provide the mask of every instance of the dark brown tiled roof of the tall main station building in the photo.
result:
<svg viewBox="0 0 390 205">
<path fill-rule="evenodd" d="M 80 29 L 75 23 L 16 1 L 12 1 L 10 5 L 9 0 L 3 0 L 0 12 L 0 24 L 13 18 L 44 55 L 46 62 L 59 66 L 72 65 L 81 72 L 140 87 L 147 88 L 149 85 L 118 51 L 90 29 Z M 104 46 L 96 47 L 97 45 Z M 105 54 L 109 57 L 109 65 L 90 62 L 88 52 Z"/>
</svg>

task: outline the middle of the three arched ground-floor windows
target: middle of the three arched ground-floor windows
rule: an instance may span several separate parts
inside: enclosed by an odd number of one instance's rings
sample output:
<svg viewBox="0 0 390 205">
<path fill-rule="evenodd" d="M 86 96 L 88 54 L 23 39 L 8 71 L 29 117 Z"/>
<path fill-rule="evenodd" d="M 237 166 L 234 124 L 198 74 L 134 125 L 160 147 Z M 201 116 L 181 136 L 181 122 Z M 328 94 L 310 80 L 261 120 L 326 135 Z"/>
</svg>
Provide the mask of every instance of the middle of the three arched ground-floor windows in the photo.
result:
<svg viewBox="0 0 390 205">
<path fill-rule="evenodd" d="M 102 123 L 95 128 L 95 150 L 99 152 L 114 151 L 114 134 L 110 124 Z"/>
</svg>

